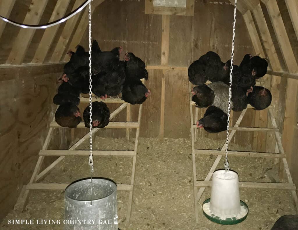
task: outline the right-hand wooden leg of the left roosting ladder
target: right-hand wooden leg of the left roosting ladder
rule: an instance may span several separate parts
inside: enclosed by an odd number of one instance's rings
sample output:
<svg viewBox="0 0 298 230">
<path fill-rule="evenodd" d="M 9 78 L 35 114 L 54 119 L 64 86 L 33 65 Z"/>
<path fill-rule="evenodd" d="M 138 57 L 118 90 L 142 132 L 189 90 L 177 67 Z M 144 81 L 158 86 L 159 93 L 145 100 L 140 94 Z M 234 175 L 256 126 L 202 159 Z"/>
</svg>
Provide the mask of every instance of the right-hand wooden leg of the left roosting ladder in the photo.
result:
<svg viewBox="0 0 298 230">
<path fill-rule="evenodd" d="M 130 219 L 131 219 L 131 211 L 132 211 L 132 203 L 133 203 L 133 198 L 134 198 L 134 178 L 135 178 L 135 173 L 136 173 L 136 155 L 138 152 L 138 143 L 139 143 L 139 134 L 140 134 L 140 124 L 141 124 L 141 117 L 142 117 L 142 104 L 139 107 L 139 115 L 138 115 L 138 124 L 139 127 L 136 128 L 136 140 L 134 143 L 134 158 L 133 158 L 133 164 L 132 164 L 132 172 L 131 172 L 131 186 L 132 186 L 132 191 L 129 192 L 129 198 L 128 198 L 128 210 L 127 210 L 127 216 L 126 216 L 126 221 L 127 225 L 129 226 Z"/>
</svg>

